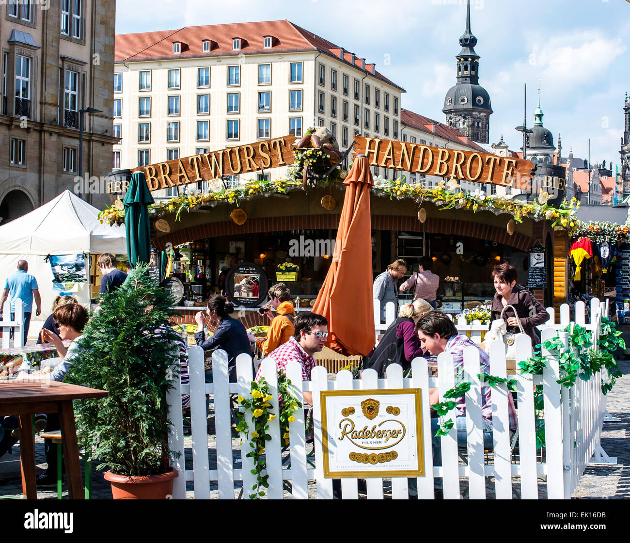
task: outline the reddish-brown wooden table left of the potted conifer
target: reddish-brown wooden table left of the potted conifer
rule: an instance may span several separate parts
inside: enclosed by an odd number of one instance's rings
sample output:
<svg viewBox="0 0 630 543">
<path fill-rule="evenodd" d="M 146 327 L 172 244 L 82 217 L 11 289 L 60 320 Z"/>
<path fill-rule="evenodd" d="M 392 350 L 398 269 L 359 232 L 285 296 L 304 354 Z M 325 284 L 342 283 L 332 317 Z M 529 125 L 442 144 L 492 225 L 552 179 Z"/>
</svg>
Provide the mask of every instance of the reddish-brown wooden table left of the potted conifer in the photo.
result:
<svg viewBox="0 0 630 543">
<path fill-rule="evenodd" d="M 31 415 L 59 413 L 62 443 L 66 458 L 68 494 L 73 500 L 83 500 L 83 481 L 79 464 L 79 445 L 72 400 L 107 397 L 109 393 L 56 381 L 4 382 L 0 384 L 0 416 L 20 417 L 20 460 L 22 493 L 28 500 L 37 500 L 35 483 L 35 440 Z M 49 466 L 50 467 L 50 466 Z"/>
</svg>

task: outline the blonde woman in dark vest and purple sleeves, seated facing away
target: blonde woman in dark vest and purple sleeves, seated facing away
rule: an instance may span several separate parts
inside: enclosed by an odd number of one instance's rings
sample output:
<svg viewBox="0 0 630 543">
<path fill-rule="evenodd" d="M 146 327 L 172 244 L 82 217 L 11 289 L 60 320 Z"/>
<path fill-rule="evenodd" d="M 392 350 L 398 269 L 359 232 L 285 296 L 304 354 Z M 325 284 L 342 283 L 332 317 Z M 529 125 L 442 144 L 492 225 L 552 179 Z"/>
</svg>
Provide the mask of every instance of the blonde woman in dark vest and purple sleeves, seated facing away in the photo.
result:
<svg viewBox="0 0 630 543">
<path fill-rule="evenodd" d="M 376 370 L 384 377 L 389 364 L 400 364 L 403 374 L 411 369 L 411 360 L 421 357 L 424 351 L 416 334 L 416 323 L 431 310 L 431 304 L 421 298 L 401 307 L 398 319 L 389 325 L 379 345 L 364 360 L 365 368 Z"/>
</svg>

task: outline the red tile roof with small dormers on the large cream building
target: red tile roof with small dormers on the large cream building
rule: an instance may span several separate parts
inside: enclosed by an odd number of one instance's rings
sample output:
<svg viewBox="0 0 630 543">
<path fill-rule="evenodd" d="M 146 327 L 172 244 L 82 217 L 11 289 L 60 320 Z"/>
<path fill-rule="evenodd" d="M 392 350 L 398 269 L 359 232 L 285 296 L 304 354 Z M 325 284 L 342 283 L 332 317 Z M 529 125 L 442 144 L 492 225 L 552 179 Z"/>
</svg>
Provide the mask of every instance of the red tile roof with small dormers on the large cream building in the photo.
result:
<svg viewBox="0 0 630 543">
<path fill-rule="evenodd" d="M 319 50 L 325 55 L 354 64 L 358 69 L 372 74 L 401 92 L 405 90 L 390 79 L 377 72 L 375 65 L 365 64 L 355 55 L 342 49 L 335 43 L 294 25 L 287 20 L 260 21 L 256 23 L 231 23 L 228 25 L 185 26 L 178 30 L 160 30 L 139 34 L 117 34 L 115 40 L 115 62 L 134 62 L 139 60 L 176 59 L 190 57 L 217 57 L 221 55 L 266 53 L 270 49 L 264 47 L 264 37 L 272 36 L 273 52 L 297 52 Z M 232 49 L 232 39 L 241 38 L 241 49 Z M 210 52 L 203 52 L 203 40 L 212 40 Z M 186 45 L 181 47 L 180 54 L 173 54 L 173 42 Z"/>
</svg>

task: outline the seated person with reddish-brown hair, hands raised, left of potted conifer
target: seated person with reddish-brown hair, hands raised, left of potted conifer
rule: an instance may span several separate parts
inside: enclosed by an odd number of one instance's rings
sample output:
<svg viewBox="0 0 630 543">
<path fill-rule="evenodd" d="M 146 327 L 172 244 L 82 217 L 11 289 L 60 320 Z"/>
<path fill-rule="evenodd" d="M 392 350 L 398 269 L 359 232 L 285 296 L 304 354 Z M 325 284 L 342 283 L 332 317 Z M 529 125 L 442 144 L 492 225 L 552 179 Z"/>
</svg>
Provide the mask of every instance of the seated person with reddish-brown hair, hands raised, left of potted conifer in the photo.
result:
<svg viewBox="0 0 630 543">
<path fill-rule="evenodd" d="M 78 341 L 83 336 L 83 328 L 85 328 L 85 325 L 88 323 L 88 312 L 81 304 L 65 304 L 57 307 L 52 316 L 55 326 L 59 329 L 59 336 L 48 329 L 43 329 L 43 341 L 45 341 L 45 343 L 54 343 L 61 362 L 49 375 L 46 375 L 46 378 L 54 381 L 63 381 L 72 363 L 80 356 Z M 72 343 L 66 348 L 62 340 L 72 340 Z M 20 372 L 16 380 L 41 381 L 43 376 L 43 372 L 35 372 L 34 374 Z M 47 419 L 47 430 L 60 430 L 59 414 L 49 413 Z M 37 486 L 57 486 L 57 445 L 54 445 L 52 440 L 45 439 L 44 450 L 50 472 L 47 469 L 37 476 Z"/>
</svg>

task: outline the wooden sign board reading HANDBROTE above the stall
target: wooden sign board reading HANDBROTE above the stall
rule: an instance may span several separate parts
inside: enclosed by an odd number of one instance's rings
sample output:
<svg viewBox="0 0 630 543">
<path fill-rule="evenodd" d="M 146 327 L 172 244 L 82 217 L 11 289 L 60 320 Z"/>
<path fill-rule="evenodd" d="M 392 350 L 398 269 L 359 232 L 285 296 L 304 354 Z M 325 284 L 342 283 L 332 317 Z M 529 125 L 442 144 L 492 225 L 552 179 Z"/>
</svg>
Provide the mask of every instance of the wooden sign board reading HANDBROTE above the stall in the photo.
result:
<svg viewBox="0 0 630 543">
<path fill-rule="evenodd" d="M 372 166 L 476 183 L 510 185 L 529 189 L 534 164 L 520 158 L 476 151 L 444 149 L 402 141 L 355 137 L 354 151 L 364 154 Z"/>
</svg>

